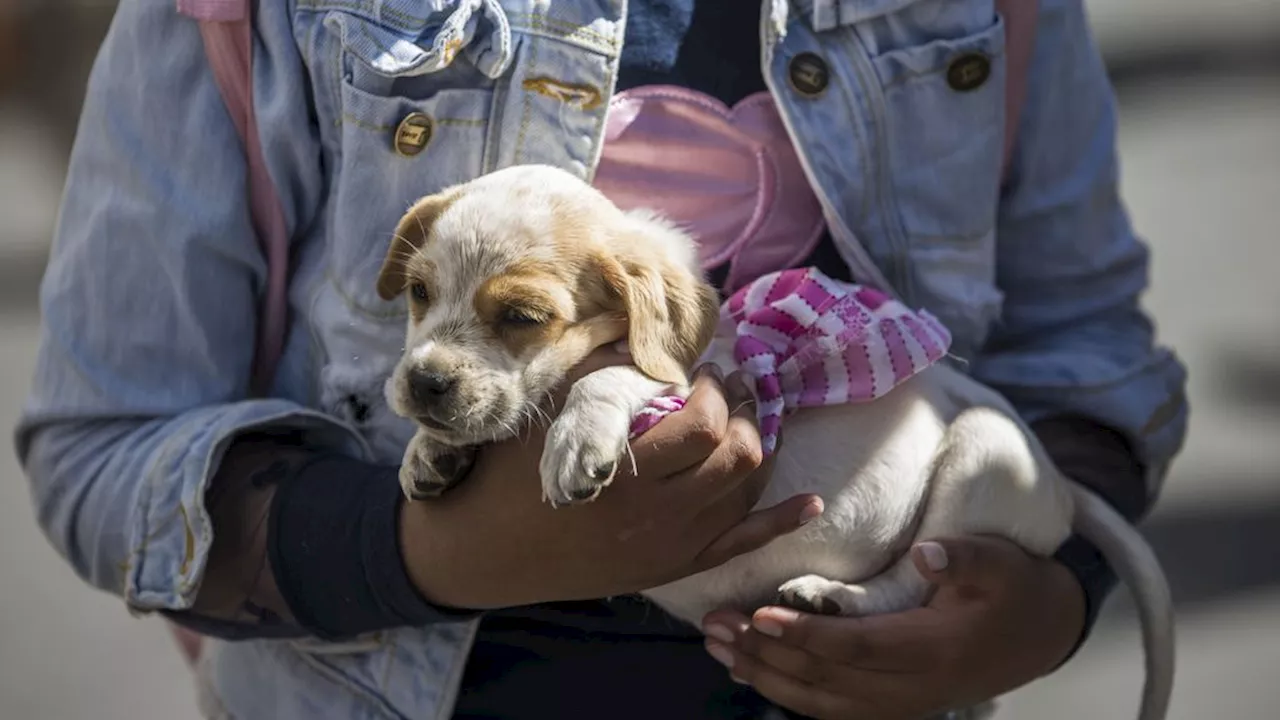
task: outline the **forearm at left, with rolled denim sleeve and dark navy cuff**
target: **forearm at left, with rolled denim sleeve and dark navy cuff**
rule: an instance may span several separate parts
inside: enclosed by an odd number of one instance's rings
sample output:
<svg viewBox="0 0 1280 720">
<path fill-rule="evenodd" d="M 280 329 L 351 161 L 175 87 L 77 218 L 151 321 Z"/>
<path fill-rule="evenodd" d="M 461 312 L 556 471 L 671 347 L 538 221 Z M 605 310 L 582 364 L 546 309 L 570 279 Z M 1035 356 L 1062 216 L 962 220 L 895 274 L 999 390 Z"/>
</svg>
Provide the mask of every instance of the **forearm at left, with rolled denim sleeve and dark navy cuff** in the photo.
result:
<svg viewBox="0 0 1280 720">
<path fill-rule="evenodd" d="M 396 468 L 283 401 L 142 423 L 19 425 L 38 518 L 136 611 L 228 638 L 335 638 L 456 619 L 410 584 Z"/>
</svg>

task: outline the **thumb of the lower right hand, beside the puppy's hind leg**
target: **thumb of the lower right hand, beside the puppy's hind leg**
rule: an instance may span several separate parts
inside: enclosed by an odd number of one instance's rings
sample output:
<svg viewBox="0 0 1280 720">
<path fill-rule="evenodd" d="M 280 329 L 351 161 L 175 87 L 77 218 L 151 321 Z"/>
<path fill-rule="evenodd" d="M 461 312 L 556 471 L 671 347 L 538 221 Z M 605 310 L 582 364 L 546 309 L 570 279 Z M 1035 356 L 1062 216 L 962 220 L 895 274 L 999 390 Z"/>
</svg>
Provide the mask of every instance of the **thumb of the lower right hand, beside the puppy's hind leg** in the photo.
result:
<svg viewBox="0 0 1280 720">
<path fill-rule="evenodd" d="M 911 548 L 911 560 L 924 579 L 982 591 L 1000 589 L 1025 559 L 1016 544 L 993 537 L 938 538 Z"/>
</svg>

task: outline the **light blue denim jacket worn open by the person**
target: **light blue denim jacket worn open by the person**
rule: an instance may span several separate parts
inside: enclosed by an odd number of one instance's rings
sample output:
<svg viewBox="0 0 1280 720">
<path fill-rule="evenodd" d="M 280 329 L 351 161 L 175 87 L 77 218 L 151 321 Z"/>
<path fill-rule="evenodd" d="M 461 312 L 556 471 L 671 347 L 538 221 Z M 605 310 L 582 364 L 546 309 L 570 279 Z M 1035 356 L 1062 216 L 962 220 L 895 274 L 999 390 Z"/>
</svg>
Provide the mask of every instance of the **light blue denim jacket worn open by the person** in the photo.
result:
<svg viewBox="0 0 1280 720">
<path fill-rule="evenodd" d="M 244 155 L 197 26 L 172 1 L 123 0 L 88 85 L 17 433 L 40 523 L 83 578 L 134 610 L 188 607 L 212 539 L 205 488 L 250 429 L 399 461 L 411 428 L 383 383 L 404 310 L 374 282 L 390 232 L 412 200 L 502 167 L 590 178 L 625 5 L 257 5 L 253 104 L 292 237 L 292 323 L 269 397 L 252 398 L 266 268 Z M 1042 1 L 1004 183 L 992 0 L 768 0 L 760 15 L 768 86 L 855 277 L 883 275 L 941 318 L 973 375 L 1028 419 L 1121 432 L 1155 496 L 1185 432 L 1184 369 L 1139 307 L 1148 256 L 1117 196 L 1116 106 L 1083 3 Z M 966 56 L 986 59 L 984 82 L 952 72 Z M 396 149 L 412 113 L 430 131 L 416 155 Z M 474 630 L 218 643 L 207 711 L 447 717 Z"/>
</svg>

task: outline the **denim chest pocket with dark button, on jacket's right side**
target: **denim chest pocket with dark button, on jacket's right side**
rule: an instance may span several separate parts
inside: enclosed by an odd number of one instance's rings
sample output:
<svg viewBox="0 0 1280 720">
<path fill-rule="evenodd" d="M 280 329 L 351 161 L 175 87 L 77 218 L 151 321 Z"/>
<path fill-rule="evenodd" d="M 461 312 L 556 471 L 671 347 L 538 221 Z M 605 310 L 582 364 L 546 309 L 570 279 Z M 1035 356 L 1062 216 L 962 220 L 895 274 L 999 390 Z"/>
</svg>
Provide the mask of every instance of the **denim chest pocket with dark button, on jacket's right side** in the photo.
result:
<svg viewBox="0 0 1280 720">
<path fill-rule="evenodd" d="M 887 184 L 908 243 L 913 300 L 951 328 L 957 352 L 970 354 L 1002 301 L 995 228 L 1004 20 L 992 0 L 849 1 L 841 10 L 879 86 Z"/>
</svg>

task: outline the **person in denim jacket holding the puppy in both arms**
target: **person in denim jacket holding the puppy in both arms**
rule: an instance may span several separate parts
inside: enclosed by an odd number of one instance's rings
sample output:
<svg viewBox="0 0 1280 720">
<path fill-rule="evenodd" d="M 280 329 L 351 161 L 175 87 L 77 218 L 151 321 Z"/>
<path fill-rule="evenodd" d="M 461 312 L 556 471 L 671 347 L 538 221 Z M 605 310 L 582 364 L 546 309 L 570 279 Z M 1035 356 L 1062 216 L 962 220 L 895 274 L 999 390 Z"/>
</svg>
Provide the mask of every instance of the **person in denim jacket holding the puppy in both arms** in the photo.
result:
<svg viewBox="0 0 1280 720">
<path fill-rule="evenodd" d="M 809 512 L 748 514 L 768 468 L 733 377 L 701 374 L 636 443 L 639 477 L 568 514 L 522 492 L 536 434 L 486 448 L 444 501 L 403 503 L 412 428 L 381 387 L 403 309 L 374 281 L 412 200 L 524 163 L 620 199 L 643 176 L 726 290 L 815 265 L 940 316 L 1065 473 L 1142 516 L 1185 430 L 1184 372 L 1138 306 L 1115 104 L 1079 0 L 1000 8 L 257 4 L 255 136 L 291 238 L 291 324 L 255 396 L 268 269 L 246 152 L 197 24 L 124 0 L 18 430 L 41 523 L 90 583 L 221 638 L 201 651 L 209 716 L 925 717 L 1051 671 L 1112 582 L 1078 539 L 1052 560 L 924 543 L 929 606 L 874 619 L 767 609 L 699 632 L 631 596 Z M 708 193 L 677 161 L 694 152 L 708 176 L 753 161 Z M 626 361 L 612 352 L 580 370 Z M 618 542 L 634 512 L 650 534 Z M 440 583 L 475 602 L 433 602 Z"/>
</svg>

